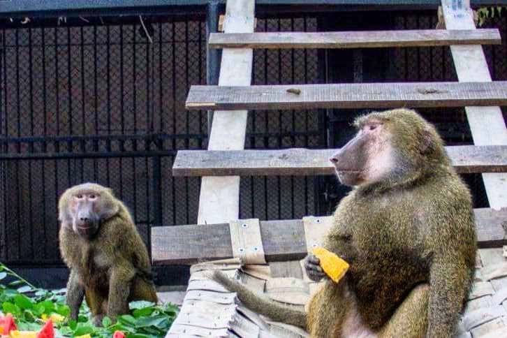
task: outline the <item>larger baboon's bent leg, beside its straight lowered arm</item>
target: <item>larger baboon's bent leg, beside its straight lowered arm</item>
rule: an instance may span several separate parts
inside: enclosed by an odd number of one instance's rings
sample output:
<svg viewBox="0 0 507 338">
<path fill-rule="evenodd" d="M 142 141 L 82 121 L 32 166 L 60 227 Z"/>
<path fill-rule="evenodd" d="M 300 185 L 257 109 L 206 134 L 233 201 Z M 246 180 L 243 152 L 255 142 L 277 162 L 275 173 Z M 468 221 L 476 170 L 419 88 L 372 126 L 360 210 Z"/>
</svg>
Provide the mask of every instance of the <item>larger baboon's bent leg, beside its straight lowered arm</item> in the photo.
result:
<svg viewBox="0 0 507 338">
<path fill-rule="evenodd" d="M 380 338 L 426 337 L 428 328 L 429 285 L 413 288 L 379 332 Z"/>
</svg>

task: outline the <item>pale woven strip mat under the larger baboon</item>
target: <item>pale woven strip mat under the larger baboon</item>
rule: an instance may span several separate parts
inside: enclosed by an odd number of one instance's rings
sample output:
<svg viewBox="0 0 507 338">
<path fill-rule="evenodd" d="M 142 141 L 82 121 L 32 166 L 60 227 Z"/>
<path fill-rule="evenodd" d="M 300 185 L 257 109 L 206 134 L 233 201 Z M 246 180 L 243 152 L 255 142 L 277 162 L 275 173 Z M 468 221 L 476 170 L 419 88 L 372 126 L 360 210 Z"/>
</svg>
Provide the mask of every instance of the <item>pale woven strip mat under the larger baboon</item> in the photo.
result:
<svg viewBox="0 0 507 338">
<path fill-rule="evenodd" d="M 235 293 L 207 279 L 214 269 L 301 309 L 318 287 L 304 277 L 300 262 L 241 267 L 239 260 L 232 259 L 193 265 L 182 311 L 166 337 L 309 337 L 300 328 L 272 322 L 242 307 Z M 507 259 L 502 249 L 479 250 L 473 289 L 458 330 L 460 338 L 507 338 Z"/>
</svg>

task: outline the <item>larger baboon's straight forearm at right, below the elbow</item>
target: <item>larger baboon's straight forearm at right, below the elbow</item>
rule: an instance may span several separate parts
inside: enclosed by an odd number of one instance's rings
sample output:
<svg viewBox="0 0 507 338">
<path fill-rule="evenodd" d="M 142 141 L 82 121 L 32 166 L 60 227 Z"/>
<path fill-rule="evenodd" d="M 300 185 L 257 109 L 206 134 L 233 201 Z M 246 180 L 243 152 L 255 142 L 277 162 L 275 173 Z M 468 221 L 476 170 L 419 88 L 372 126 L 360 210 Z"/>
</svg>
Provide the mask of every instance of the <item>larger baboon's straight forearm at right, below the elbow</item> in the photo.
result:
<svg viewBox="0 0 507 338">
<path fill-rule="evenodd" d="M 469 290 L 468 271 L 460 257 L 441 258 L 432 264 L 426 337 L 454 337 L 457 316 Z"/>
</svg>

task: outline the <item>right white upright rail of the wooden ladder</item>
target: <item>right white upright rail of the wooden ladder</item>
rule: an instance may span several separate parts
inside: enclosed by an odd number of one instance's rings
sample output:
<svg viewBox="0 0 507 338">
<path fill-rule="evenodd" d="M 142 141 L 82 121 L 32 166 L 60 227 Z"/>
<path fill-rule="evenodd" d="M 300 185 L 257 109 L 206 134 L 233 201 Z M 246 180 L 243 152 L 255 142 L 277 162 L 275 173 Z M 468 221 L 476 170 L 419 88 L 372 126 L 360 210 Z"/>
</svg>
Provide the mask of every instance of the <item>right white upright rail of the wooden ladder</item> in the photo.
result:
<svg viewBox="0 0 507 338">
<path fill-rule="evenodd" d="M 442 0 L 447 29 L 475 29 L 469 0 Z M 483 48 L 480 45 L 451 45 L 457 78 L 460 82 L 490 82 Z M 507 145 L 507 128 L 499 107 L 466 107 L 475 145 Z M 507 207 L 507 175 L 483 174 L 490 207 Z"/>
</svg>

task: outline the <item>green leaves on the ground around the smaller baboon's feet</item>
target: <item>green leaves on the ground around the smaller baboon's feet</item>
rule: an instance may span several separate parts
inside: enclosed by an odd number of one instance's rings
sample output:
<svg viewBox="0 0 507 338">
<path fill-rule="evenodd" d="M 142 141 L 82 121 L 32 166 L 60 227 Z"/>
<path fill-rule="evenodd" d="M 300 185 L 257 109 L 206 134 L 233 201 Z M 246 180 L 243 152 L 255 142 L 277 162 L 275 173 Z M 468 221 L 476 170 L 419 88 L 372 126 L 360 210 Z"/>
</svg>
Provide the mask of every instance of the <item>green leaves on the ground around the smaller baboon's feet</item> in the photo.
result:
<svg viewBox="0 0 507 338">
<path fill-rule="evenodd" d="M 8 281 L 3 284 L 3 281 Z M 152 302 L 131 302 L 131 314 L 118 316 L 112 323 L 103 318 L 103 328 L 91 323 L 89 308 L 83 302 L 78 321 L 68 319 L 71 309 L 65 304 L 66 289 L 49 291 L 37 288 L 0 263 L 0 311 L 11 313 L 18 330 L 38 331 L 47 318 L 52 318 L 57 337 L 112 337 L 119 330 L 127 338 L 162 338 L 177 316 L 175 304 L 157 305 Z"/>
</svg>

